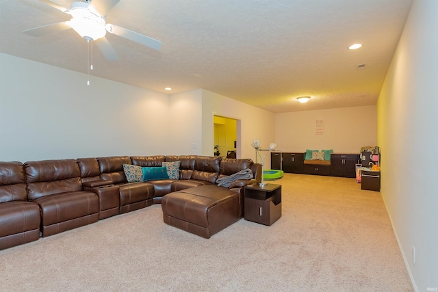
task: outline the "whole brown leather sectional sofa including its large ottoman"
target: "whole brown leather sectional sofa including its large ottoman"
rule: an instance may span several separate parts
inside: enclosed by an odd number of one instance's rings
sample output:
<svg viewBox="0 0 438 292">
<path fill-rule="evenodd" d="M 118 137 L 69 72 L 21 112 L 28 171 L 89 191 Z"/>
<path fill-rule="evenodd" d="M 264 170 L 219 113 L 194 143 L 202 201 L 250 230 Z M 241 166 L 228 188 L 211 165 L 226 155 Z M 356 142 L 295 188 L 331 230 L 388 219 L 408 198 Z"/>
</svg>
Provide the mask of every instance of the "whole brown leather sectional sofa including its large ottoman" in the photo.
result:
<svg viewBox="0 0 438 292">
<path fill-rule="evenodd" d="M 123 164 L 159 167 L 172 161 L 181 161 L 179 179 L 129 183 L 123 170 Z M 247 168 L 255 179 L 230 187 L 216 184 Z M 0 250 L 151 204 L 162 204 L 166 224 L 209 238 L 243 217 L 243 186 L 260 179 L 260 165 L 251 159 L 123 156 L 0 162 Z"/>
</svg>

